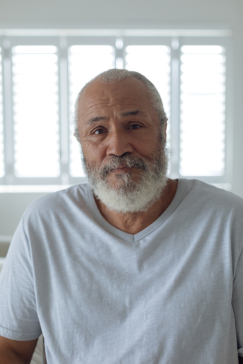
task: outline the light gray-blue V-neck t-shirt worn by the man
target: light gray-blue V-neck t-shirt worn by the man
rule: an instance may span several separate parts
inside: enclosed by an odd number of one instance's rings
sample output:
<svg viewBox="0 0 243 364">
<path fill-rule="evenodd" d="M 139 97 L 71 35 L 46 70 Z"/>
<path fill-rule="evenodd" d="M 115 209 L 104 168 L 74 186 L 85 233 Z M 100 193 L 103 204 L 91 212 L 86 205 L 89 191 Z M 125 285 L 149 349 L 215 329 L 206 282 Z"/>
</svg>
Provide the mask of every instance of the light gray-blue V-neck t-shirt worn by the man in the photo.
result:
<svg viewBox="0 0 243 364">
<path fill-rule="evenodd" d="M 50 364 L 238 364 L 243 356 L 243 200 L 179 180 L 131 235 L 87 184 L 37 199 L 0 276 L 0 335 L 43 332 Z"/>
</svg>

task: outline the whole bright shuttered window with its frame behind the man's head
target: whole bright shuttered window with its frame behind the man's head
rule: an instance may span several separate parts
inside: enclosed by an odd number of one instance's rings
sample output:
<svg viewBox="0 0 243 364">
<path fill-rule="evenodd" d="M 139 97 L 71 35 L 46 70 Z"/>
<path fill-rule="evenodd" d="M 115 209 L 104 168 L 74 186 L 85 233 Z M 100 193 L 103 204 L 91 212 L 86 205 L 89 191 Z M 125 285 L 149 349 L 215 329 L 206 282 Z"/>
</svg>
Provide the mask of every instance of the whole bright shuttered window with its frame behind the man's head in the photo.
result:
<svg viewBox="0 0 243 364">
<path fill-rule="evenodd" d="M 0 38 L 0 183 L 83 181 L 74 102 L 85 83 L 114 67 L 136 70 L 158 89 L 169 118 L 172 178 L 230 182 L 230 33 L 112 33 Z"/>
</svg>

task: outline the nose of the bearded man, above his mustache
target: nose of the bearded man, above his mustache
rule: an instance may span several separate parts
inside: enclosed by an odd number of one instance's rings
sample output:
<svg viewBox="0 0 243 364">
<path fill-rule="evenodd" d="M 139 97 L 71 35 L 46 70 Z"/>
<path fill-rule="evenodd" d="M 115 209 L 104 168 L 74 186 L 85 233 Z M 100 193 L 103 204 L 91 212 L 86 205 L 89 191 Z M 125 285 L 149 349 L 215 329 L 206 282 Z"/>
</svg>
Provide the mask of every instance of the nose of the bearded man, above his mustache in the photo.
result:
<svg viewBox="0 0 243 364">
<path fill-rule="evenodd" d="M 121 156 L 124 153 L 132 153 L 133 147 L 128 135 L 124 131 L 110 132 L 108 138 L 106 138 L 107 155 Z"/>
</svg>

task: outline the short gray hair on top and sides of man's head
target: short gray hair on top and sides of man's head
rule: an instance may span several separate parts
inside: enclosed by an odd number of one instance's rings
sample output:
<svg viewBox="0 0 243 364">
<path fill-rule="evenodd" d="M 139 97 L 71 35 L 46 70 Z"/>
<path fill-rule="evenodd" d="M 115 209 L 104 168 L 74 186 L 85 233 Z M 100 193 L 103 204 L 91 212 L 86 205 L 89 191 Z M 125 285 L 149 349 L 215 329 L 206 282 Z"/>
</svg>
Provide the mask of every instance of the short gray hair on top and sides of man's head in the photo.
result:
<svg viewBox="0 0 243 364">
<path fill-rule="evenodd" d="M 163 106 L 162 100 L 160 98 L 160 95 L 159 95 L 155 85 L 139 72 L 128 71 L 127 69 L 113 68 L 113 69 L 108 69 L 107 71 L 100 73 L 98 76 L 94 77 L 91 81 L 86 83 L 86 85 L 81 89 L 81 91 L 79 92 L 79 94 L 77 96 L 77 99 L 75 102 L 75 107 L 74 107 L 73 123 L 74 123 L 74 135 L 76 136 L 76 138 L 78 139 L 79 142 L 80 142 L 80 135 L 79 135 L 79 131 L 78 131 L 78 121 L 79 121 L 79 116 L 80 116 L 79 101 L 80 101 L 81 95 L 83 94 L 86 87 L 93 81 L 100 81 L 104 84 L 111 84 L 111 83 L 118 83 L 119 81 L 123 81 L 123 80 L 127 80 L 127 79 L 136 79 L 136 80 L 141 81 L 145 85 L 145 87 L 147 88 L 147 91 L 148 91 L 150 104 L 153 107 L 153 109 L 156 111 L 156 113 L 158 114 L 160 127 L 161 127 L 161 129 L 164 127 L 168 118 L 164 111 L 164 106 Z"/>
</svg>

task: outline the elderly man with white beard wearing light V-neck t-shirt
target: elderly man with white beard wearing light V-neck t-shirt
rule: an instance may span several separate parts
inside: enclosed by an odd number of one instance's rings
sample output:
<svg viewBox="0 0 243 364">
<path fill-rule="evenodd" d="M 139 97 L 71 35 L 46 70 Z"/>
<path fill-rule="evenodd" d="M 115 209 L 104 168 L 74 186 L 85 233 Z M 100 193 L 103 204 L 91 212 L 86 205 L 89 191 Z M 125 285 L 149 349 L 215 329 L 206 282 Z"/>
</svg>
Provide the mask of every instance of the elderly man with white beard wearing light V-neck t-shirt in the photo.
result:
<svg viewBox="0 0 243 364">
<path fill-rule="evenodd" d="M 97 76 L 75 112 L 88 184 L 17 228 L 0 363 L 29 363 L 41 332 L 50 364 L 243 363 L 242 199 L 166 178 L 167 118 L 139 73 Z"/>
</svg>

